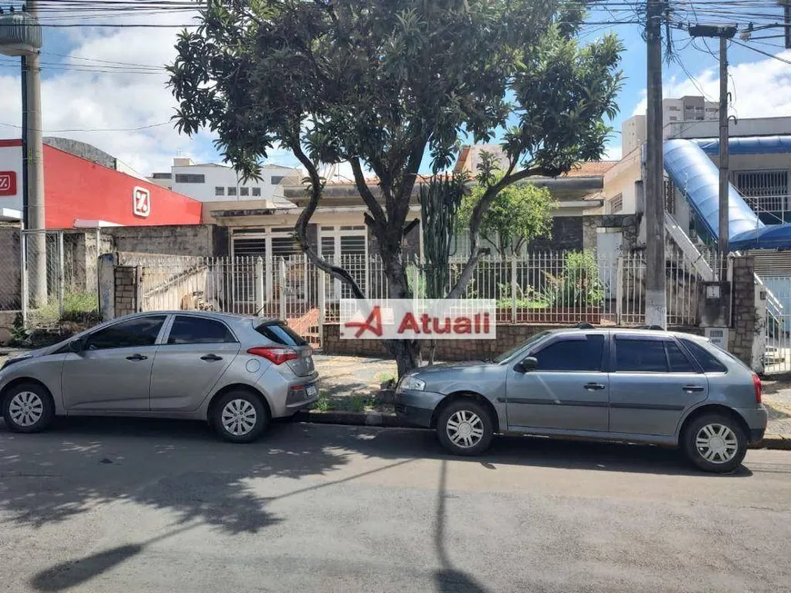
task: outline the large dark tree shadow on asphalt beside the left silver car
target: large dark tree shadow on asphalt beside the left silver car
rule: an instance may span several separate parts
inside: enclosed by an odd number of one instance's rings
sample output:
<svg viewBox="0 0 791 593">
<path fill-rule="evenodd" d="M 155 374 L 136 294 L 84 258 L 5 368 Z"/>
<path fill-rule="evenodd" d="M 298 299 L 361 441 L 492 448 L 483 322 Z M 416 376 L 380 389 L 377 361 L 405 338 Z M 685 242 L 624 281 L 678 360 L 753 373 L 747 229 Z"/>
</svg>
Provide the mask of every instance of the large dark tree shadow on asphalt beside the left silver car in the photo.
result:
<svg viewBox="0 0 791 593">
<path fill-rule="evenodd" d="M 287 449 L 278 433 L 289 431 Z M 294 434 L 295 433 L 295 434 Z M 277 522 L 251 479 L 299 479 L 346 464 L 298 425 L 275 424 L 264 440 L 233 445 L 199 422 L 69 420 L 37 435 L 0 422 L 0 511 L 35 528 L 96 506 L 133 502 L 226 533 L 255 533 Z"/>
</svg>

